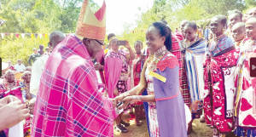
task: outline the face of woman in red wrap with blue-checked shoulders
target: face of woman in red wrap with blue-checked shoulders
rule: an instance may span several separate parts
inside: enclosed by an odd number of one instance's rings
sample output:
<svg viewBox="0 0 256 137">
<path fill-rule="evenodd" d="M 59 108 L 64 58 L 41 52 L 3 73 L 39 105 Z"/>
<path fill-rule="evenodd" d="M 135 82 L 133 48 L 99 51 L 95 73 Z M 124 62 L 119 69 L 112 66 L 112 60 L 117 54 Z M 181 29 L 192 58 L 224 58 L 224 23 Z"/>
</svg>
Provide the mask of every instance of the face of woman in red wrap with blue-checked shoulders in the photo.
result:
<svg viewBox="0 0 256 137">
<path fill-rule="evenodd" d="M 210 28 L 213 34 L 218 35 L 223 33 L 224 25 L 220 23 L 220 19 L 213 18 L 210 23 Z"/>
</svg>

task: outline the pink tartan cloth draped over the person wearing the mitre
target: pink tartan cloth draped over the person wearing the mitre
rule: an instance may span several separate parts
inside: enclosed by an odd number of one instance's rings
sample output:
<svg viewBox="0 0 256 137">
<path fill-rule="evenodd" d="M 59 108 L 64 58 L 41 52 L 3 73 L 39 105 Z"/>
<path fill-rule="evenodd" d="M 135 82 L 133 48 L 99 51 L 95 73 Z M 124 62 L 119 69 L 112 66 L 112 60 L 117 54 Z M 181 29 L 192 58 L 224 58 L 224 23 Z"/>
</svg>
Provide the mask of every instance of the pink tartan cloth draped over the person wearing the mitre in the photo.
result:
<svg viewBox="0 0 256 137">
<path fill-rule="evenodd" d="M 112 101 L 98 92 L 96 71 L 78 37 L 50 54 L 40 80 L 32 136 L 113 136 Z"/>
</svg>

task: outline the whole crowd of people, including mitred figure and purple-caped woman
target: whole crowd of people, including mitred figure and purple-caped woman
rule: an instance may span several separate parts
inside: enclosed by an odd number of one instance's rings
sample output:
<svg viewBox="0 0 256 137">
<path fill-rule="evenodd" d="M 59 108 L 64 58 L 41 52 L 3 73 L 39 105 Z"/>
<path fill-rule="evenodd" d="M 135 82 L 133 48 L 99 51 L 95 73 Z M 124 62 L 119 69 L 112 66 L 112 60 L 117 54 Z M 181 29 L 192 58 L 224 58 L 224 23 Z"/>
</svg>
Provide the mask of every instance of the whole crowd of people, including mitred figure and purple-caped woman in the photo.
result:
<svg viewBox="0 0 256 137">
<path fill-rule="evenodd" d="M 24 136 L 113 136 L 146 119 L 150 137 L 185 137 L 195 118 L 213 137 L 256 137 L 256 8 L 212 17 L 205 28 L 183 20 L 148 26 L 146 48 L 123 48 L 106 35 L 106 4 L 95 14 L 82 5 L 75 34 L 49 35 L 49 47 L 33 49 L 29 66 L 2 63 L 0 136 L 24 122 Z"/>
</svg>

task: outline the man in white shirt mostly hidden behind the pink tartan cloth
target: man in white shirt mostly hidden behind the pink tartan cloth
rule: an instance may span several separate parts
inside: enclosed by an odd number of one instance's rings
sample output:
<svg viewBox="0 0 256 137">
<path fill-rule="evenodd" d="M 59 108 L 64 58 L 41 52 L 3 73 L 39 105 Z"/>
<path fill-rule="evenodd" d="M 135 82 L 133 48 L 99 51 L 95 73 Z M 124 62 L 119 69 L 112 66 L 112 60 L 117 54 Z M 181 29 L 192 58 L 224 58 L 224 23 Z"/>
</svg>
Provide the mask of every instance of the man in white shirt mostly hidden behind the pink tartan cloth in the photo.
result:
<svg viewBox="0 0 256 137">
<path fill-rule="evenodd" d="M 53 31 L 49 34 L 49 48 L 54 49 L 58 43 L 65 38 L 64 34 L 61 31 Z M 43 73 L 44 65 L 49 58 L 49 54 L 45 54 L 44 56 L 38 58 L 35 63 L 32 65 L 32 75 L 30 81 L 30 93 L 37 95 L 38 88 L 40 84 L 40 78 Z"/>
</svg>

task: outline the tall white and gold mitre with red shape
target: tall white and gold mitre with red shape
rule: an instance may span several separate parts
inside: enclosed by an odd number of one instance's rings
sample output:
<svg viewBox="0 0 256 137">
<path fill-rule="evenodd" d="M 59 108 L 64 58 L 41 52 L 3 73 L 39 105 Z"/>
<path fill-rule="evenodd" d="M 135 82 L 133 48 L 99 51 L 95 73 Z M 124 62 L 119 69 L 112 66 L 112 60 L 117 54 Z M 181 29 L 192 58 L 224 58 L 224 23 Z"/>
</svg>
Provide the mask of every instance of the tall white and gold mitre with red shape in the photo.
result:
<svg viewBox="0 0 256 137">
<path fill-rule="evenodd" d="M 79 14 L 79 21 L 75 35 L 83 40 L 90 39 L 104 40 L 106 36 L 106 3 L 95 14 L 90 9 L 89 0 L 84 0 Z"/>
</svg>

